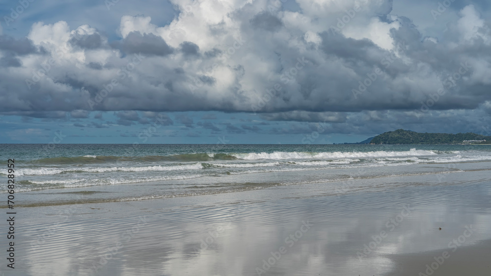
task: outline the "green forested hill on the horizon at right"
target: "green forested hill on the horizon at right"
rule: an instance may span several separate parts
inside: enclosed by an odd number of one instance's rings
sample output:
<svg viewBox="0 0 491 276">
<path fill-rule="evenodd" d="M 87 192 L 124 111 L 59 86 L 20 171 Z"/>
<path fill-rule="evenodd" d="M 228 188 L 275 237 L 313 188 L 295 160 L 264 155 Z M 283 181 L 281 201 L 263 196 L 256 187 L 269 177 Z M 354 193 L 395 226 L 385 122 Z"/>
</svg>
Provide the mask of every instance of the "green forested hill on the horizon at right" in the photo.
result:
<svg viewBox="0 0 491 276">
<path fill-rule="evenodd" d="M 491 144 L 491 136 L 467 133 L 418 133 L 397 129 L 375 136 L 370 144 Z"/>
</svg>

